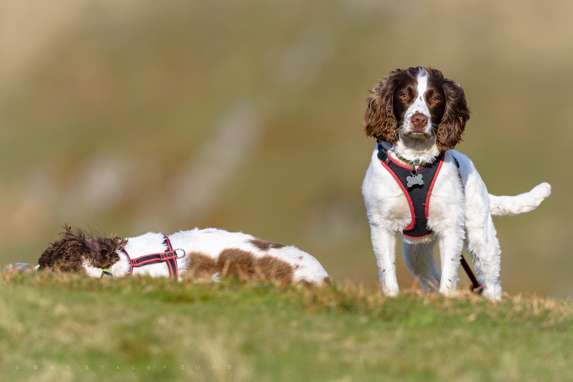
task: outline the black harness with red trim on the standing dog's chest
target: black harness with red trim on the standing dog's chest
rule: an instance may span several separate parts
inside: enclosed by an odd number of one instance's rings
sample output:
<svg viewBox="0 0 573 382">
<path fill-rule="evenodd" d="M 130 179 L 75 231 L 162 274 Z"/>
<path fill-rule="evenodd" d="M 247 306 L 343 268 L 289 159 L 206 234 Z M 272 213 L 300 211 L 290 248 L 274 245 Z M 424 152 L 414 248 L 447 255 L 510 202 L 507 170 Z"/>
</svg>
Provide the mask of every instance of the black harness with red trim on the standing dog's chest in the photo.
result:
<svg viewBox="0 0 573 382">
<path fill-rule="evenodd" d="M 440 152 L 434 162 L 413 170 L 413 167 L 407 166 L 406 163 L 393 159 L 382 144 L 378 143 L 378 159 L 398 182 L 410 206 L 412 223 L 402 231 L 402 234 L 409 238 L 423 238 L 431 234 L 432 231 L 427 227 L 428 205 L 435 179 L 444 163 L 444 152 Z M 412 179 L 418 181 L 423 179 L 423 183 L 412 184 Z"/>
</svg>

